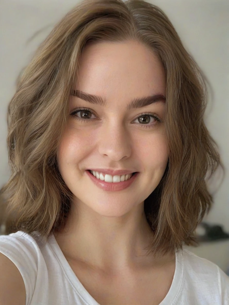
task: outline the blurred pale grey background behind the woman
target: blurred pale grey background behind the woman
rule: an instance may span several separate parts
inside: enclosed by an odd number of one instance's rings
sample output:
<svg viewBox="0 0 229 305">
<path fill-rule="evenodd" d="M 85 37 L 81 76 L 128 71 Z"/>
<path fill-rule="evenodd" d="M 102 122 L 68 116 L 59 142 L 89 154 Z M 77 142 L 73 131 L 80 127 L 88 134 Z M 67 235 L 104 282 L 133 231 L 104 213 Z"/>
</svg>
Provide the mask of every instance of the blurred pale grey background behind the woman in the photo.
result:
<svg viewBox="0 0 229 305">
<path fill-rule="evenodd" d="M 10 177 L 7 106 L 15 93 L 16 79 L 54 25 L 78 2 L 0 0 L 0 188 Z M 229 275 L 229 1 L 147 2 L 158 5 L 167 14 L 213 89 L 209 91 L 205 124 L 219 146 L 225 178 L 222 182 L 218 170 L 209 181 L 209 192 L 214 194 L 213 208 L 196 230 L 201 240 L 199 246 L 185 248 L 213 261 Z"/>
</svg>

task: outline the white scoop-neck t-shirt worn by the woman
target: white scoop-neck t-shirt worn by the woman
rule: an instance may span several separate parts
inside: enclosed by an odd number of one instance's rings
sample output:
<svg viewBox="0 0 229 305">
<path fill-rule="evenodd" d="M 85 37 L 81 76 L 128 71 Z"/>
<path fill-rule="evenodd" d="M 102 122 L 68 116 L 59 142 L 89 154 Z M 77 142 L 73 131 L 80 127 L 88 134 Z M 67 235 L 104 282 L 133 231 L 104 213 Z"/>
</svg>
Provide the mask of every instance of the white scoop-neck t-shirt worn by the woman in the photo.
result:
<svg viewBox="0 0 229 305">
<path fill-rule="evenodd" d="M 54 235 L 45 246 L 23 231 L 1 235 L 0 252 L 22 275 L 25 305 L 99 305 L 78 280 Z M 158 305 L 229 305 L 229 277 L 187 249 L 176 251 L 173 282 Z"/>
</svg>

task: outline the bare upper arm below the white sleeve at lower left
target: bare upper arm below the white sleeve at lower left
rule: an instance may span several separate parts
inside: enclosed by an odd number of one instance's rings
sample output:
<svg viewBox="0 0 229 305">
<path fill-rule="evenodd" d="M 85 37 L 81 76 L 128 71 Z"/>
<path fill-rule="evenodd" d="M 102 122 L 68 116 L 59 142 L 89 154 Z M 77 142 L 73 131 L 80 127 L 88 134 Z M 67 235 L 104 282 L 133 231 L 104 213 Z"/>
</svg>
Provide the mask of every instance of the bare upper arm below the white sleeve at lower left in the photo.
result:
<svg viewBox="0 0 229 305">
<path fill-rule="evenodd" d="M 0 305 L 25 305 L 25 285 L 15 264 L 0 253 Z"/>
</svg>

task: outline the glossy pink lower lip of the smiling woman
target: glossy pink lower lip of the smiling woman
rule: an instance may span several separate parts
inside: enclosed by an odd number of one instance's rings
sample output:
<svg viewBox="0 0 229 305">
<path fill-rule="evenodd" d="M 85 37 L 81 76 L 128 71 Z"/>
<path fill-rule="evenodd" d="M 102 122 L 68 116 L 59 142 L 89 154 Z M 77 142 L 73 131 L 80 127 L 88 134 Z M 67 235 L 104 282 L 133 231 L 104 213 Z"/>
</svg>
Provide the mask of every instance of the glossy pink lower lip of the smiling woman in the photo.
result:
<svg viewBox="0 0 229 305">
<path fill-rule="evenodd" d="M 139 172 L 136 172 L 134 175 L 132 174 L 131 178 L 125 181 L 120 182 L 105 182 L 100 179 L 97 179 L 90 170 L 86 170 L 87 174 L 91 178 L 91 180 L 99 187 L 102 188 L 105 191 L 121 191 L 125 188 L 128 188 L 135 179 L 137 178 Z"/>
</svg>

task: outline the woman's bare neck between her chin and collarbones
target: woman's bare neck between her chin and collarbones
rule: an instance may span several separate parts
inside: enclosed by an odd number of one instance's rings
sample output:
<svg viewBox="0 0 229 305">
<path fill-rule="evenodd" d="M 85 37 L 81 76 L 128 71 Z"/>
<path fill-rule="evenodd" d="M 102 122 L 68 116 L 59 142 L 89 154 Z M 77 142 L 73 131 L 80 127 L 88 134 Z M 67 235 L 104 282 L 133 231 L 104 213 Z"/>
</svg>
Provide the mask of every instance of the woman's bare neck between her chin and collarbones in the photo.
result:
<svg viewBox="0 0 229 305">
<path fill-rule="evenodd" d="M 154 232 L 147 222 L 144 202 L 122 217 L 101 216 L 85 205 L 78 205 L 77 212 L 71 210 L 64 230 L 54 233 L 69 260 L 106 271 L 159 262 L 152 255 L 146 256 L 145 248 Z"/>
</svg>

